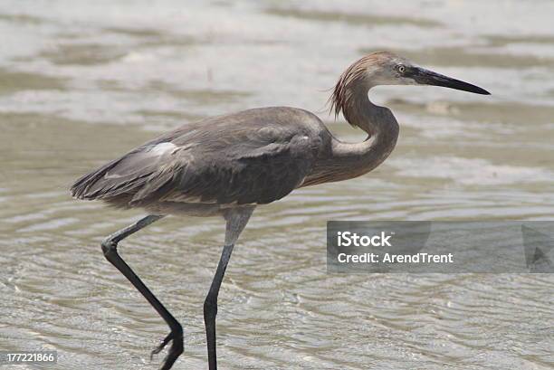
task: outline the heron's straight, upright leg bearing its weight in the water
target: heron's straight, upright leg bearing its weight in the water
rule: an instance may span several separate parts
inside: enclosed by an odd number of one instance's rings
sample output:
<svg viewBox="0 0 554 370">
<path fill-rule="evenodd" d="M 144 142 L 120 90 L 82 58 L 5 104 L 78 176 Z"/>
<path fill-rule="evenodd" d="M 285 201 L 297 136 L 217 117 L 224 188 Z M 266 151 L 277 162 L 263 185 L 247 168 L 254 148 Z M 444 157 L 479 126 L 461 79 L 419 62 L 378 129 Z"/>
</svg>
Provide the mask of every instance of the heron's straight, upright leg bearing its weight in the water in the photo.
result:
<svg viewBox="0 0 554 370">
<path fill-rule="evenodd" d="M 248 219 L 253 213 L 253 207 L 242 207 L 230 209 L 225 213 L 226 228 L 225 228 L 225 245 L 221 258 L 215 270 L 214 280 L 210 286 L 207 296 L 204 301 L 204 323 L 205 337 L 207 342 L 208 364 L 209 370 L 217 369 L 217 356 L 215 354 L 215 316 L 217 315 L 217 296 L 221 282 L 224 279 L 227 263 L 231 258 L 234 243 L 248 223 Z"/>
</svg>

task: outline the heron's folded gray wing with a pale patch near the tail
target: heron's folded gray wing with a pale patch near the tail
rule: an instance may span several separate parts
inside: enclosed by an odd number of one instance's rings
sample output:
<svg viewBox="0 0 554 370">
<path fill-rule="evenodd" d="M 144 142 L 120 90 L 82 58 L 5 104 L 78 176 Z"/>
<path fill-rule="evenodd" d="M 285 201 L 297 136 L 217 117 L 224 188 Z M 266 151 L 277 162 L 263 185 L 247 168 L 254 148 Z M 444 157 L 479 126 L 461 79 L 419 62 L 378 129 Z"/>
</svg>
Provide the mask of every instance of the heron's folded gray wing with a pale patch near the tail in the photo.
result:
<svg viewBox="0 0 554 370">
<path fill-rule="evenodd" d="M 81 177 L 72 194 L 113 204 L 267 204 L 301 185 L 320 138 L 301 125 L 192 126 Z"/>
</svg>

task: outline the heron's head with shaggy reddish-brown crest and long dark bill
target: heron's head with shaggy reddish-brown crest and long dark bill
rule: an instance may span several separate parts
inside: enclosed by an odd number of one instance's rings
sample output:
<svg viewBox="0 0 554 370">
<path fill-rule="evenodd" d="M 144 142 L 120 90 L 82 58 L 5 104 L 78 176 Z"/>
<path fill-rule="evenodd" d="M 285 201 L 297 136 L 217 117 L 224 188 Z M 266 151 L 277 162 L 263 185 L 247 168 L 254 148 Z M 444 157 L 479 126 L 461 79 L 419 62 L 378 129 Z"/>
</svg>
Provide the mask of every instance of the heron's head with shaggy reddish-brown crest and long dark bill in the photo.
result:
<svg viewBox="0 0 554 370">
<path fill-rule="evenodd" d="M 425 70 L 392 52 L 372 52 L 353 62 L 342 73 L 330 98 L 331 110 L 339 115 L 359 92 L 367 94 L 369 89 L 378 85 L 433 85 L 475 94 L 491 94 L 471 83 Z"/>
</svg>

